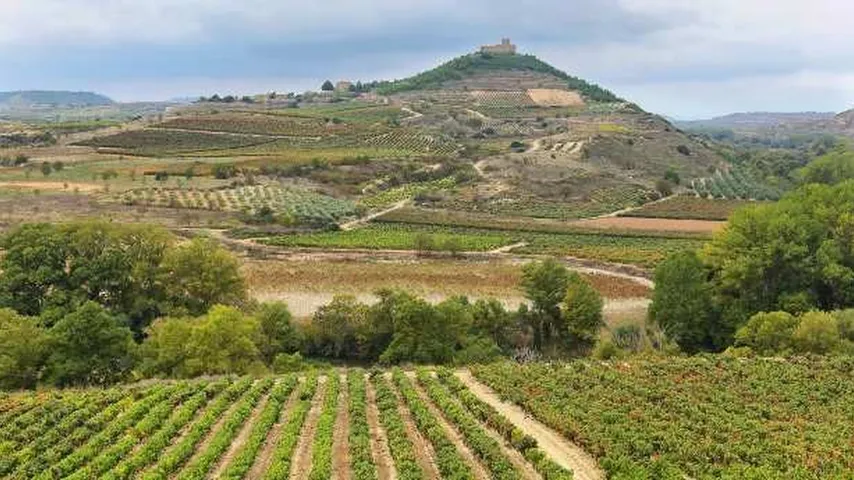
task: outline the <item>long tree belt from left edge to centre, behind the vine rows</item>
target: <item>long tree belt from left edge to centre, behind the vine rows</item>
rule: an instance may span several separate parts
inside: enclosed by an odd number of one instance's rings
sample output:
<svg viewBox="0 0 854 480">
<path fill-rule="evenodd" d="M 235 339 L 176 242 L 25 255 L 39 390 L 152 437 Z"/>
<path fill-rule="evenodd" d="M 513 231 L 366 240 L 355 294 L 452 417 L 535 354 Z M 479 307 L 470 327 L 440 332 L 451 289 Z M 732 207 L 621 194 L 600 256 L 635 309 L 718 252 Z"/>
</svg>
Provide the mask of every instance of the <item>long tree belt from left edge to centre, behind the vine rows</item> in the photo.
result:
<svg viewBox="0 0 854 480">
<path fill-rule="evenodd" d="M 304 359 L 452 364 L 585 353 L 602 298 L 547 260 L 524 267 L 530 307 L 400 290 L 338 296 L 308 322 L 252 301 L 237 260 L 204 238 L 102 222 L 24 225 L 2 241 L 0 388 L 285 372 Z"/>
</svg>

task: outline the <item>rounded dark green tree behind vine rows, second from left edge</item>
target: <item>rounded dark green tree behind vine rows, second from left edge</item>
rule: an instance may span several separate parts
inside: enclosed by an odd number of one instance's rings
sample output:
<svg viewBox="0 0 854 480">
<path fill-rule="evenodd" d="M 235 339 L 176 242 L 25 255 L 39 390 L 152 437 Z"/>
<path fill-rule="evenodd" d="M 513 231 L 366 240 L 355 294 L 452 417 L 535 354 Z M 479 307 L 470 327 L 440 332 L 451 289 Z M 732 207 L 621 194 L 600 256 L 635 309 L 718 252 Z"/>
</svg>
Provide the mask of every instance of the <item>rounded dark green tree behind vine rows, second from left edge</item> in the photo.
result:
<svg viewBox="0 0 854 480">
<path fill-rule="evenodd" d="M 115 383 L 133 368 L 135 346 L 129 328 L 87 302 L 51 328 L 45 378 L 59 387 Z"/>
</svg>

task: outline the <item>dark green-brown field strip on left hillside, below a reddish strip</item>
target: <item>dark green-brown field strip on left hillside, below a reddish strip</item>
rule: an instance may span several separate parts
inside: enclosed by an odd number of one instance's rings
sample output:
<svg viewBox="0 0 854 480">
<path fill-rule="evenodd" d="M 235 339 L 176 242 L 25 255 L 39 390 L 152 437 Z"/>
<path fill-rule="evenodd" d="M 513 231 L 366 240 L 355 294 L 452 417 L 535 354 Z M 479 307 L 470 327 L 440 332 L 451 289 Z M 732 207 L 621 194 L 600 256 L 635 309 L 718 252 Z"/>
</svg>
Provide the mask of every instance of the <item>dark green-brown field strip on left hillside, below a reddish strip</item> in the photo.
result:
<svg viewBox="0 0 854 480">
<path fill-rule="evenodd" d="M 204 150 L 235 149 L 272 140 L 264 137 L 151 129 L 96 137 L 80 142 L 78 145 L 109 149 L 128 155 L 161 156 Z"/>
</svg>

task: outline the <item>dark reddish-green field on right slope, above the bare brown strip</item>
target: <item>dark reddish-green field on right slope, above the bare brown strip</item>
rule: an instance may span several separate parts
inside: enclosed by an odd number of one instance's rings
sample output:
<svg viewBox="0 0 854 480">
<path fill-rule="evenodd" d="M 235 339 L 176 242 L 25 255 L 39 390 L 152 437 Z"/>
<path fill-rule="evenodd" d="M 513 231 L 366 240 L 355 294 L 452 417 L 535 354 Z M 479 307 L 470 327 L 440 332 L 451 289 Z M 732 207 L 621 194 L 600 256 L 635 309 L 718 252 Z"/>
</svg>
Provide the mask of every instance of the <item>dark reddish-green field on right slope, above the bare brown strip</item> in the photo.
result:
<svg viewBox="0 0 854 480">
<path fill-rule="evenodd" d="M 620 216 L 686 220 L 726 220 L 735 210 L 758 204 L 761 204 L 761 202 L 749 200 L 716 200 L 680 195 L 663 202 L 645 205 Z"/>
</svg>

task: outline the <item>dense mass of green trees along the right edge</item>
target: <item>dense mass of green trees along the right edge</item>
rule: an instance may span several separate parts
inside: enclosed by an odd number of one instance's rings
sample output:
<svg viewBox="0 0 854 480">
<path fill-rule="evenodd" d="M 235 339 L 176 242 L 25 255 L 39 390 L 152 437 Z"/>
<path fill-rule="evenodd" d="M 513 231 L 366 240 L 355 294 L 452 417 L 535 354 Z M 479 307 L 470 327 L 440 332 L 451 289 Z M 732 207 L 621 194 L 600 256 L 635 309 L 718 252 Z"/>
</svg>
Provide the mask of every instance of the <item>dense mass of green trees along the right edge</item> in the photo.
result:
<svg viewBox="0 0 854 480">
<path fill-rule="evenodd" d="M 656 269 L 650 318 L 683 350 L 854 354 L 854 152 L 794 176 L 779 202 L 735 212 Z"/>
</svg>

